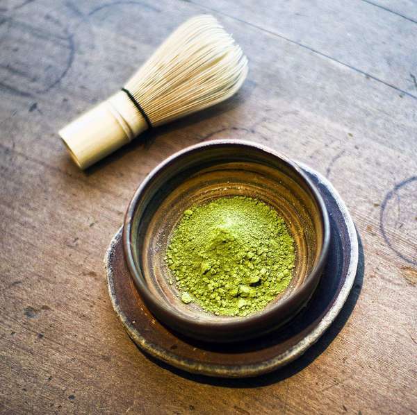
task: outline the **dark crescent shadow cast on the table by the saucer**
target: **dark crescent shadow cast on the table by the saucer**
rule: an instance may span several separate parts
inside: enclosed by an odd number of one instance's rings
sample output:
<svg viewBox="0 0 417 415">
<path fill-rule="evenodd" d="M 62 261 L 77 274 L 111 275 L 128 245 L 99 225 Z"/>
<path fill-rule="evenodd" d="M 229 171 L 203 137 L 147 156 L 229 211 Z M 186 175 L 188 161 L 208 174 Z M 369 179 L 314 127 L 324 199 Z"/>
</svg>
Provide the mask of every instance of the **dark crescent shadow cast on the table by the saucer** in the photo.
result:
<svg viewBox="0 0 417 415">
<path fill-rule="evenodd" d="M 176 375 L 181 376 L 182 378 L 186 378 L 188 380 L 193 380 L 195 382 L 204 383 L 204 384 L 212 384 L 215 386 L 220 387 L 236 387 L 236 388 L 252 388 L 252 387 L 261 387 L 267 386 L 269 384 L 274 384 L 277 382 L 281 382 L 281 380 L 285 380 L 287 378 L 291 378 L 291 376 L 299 373 L 306 366 L 309 366 L 311 362 L 313 362 L 318 356 L 320 356 L 332 343 L 334 338 L 337 336 L 339 332 L 341 332 L 343 326 L 347 322 L 354 310 L 354 306 L 357 303 L 359 295 L 361 293 L 361 287 L 363 284 L 363 275 L 365 271 L 365 263 L 364 263 L 364 254 L 363 254 L 363 245 L 361 242 L 361 237 L 359 233 L 358 235 L 358 242 L 359 242 L 359 261 L 358 261 L 358 269 L 354 279 L 354 285 L 352 290 L 350 291 L 349 296 L 343 306 L 341 312 L 336 317 L 335 321 L 332 323 L 330 328 L 325 332 L 325 334 L 320 337 L 316 344 L 311 346 L 304 355 L 296 359 L 291 364 L 284 366 L 277 371 L 272 373 L 268 373 L 266 375 L 261 375 L 256 378 L 243 378 L 243 379 L 228 379 L 228 378 L 211 378 L 205 375 L 195 375 L 193 373 L 188 373 L 186 371 L 182 371 L 181 369 L 174 368 L 168 364 L 160 362 L 159 360 L 155 359 L 154 357 L 147 355 L 147 357 L 152 360 L 155 364 L 160 366 L 161 368 L 170 371 Z"/>
</svg>

